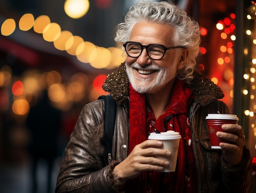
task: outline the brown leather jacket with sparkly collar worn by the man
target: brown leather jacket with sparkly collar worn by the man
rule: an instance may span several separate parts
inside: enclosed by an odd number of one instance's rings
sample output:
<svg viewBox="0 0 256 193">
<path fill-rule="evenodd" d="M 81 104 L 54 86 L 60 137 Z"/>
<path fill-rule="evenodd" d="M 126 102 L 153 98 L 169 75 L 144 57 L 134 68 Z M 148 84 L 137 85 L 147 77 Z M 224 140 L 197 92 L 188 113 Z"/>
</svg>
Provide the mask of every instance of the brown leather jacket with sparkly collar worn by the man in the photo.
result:
<svg viewBox="0 0 256 193">
<path fill-rule="evenodd" d="M 114 81 L 113 81 L 114 80 Z M 221 99 L 223 93 L 209 79 L 194 73 L 193 89 L 195 99 L 189 111 L 192 143 L 198 176 L 198 193 L 248 193 L 252 180 L 252 160 L 244 147 L 243 160 L 236 167 L 230 167 L 222 157 L 222 150 L 211 149 L 205 122 L 208 113 L 229 113 Z M 117 114 L 112 143 L 112 161 L 107 164 L 105 150 L 104 103 L 97 100 L 84 106 L 76 123 L 58 175 L 56 193 L 125 192 L 112 187 L 110 174 L 118 163 L 128 155 L 128 79 L 122 64 L 108 76 L 103 86 L 116 99 Z"/>
</svg>

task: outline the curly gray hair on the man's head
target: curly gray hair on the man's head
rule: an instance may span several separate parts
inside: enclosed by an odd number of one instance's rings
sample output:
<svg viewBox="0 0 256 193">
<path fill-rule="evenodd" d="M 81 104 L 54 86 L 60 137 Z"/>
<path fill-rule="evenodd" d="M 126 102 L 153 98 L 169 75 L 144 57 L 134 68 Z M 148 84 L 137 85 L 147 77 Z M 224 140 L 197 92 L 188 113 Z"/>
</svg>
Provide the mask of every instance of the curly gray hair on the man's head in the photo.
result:
<svg viewBox="0 0 256 193">
<path fill-rule="evenodd" d="M 182 46 L 189 50 L 185 66 L 178 70 L 176 77 L 189 83 L 193 79 L 196 58 L 200 49 L 200 28 L 198 22 L 189 17 L 179 6 L 168 2 L 138 2 L 124 18 L 124 22 L 117 25 L 116 43 L 129 41 L 134 25 L 139 21 L 157 22 L 171 25 L 174 29 L 175 46 Z"/>
</svg>

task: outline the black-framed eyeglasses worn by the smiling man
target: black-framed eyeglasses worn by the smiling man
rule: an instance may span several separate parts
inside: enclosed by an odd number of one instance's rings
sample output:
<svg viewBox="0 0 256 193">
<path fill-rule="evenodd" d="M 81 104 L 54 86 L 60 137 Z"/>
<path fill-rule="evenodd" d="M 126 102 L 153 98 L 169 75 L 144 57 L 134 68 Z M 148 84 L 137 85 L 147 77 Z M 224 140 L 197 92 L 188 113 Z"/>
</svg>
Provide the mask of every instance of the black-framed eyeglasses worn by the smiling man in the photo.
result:
<svg viewBox="0 0 256 193">
<path fill-rule="evenodd" d="M 164 57 L 166 50 L 168 49 L 184 48 L 182 46 L 165 47 L 161 44 L 142 45 L 139 42 L 126 42 L 123 46 L 127 55 L 132 58 L 139 57 L 143 51 L 143 48 L 145 47 L 148 56 L 153 60 L 162 59 Z"/>
</svg>

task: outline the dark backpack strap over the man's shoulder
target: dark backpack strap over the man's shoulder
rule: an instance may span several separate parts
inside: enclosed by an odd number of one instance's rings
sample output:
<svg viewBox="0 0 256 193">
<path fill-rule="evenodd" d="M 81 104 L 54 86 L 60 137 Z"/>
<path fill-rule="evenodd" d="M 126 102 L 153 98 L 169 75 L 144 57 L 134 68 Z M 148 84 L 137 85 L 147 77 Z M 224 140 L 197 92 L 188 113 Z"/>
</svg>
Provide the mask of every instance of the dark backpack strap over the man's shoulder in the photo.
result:
<svg viewBox="0 0 256 193">
<path fill-rule="evenodd" d="M 104 130 L 105 130 L 105 142 L 108 149 L 107 160 L 108 163 L 112 161 L 112 140 L 115 130 L 115 120 L 116 120 L 116 101 L 112 98 L 110 94 L 101 95 L 98 99 L 104 100 Z"/>
</svg>

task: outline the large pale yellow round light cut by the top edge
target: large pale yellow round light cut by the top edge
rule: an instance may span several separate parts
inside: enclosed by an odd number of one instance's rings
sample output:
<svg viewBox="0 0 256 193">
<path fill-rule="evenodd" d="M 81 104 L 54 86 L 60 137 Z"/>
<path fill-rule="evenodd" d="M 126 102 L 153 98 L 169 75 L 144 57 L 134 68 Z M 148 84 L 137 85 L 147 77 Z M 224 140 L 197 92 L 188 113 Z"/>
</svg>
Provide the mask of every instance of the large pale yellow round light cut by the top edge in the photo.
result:
<svg viewBox="0 0 256 193">
<path fill-rule="evenodd" d="M 89 0 L 66 0 L 64 3 L 65 13 L 73 19 L 83 17 L 89 7 Z"/>
</svg>

